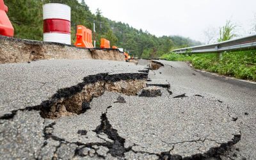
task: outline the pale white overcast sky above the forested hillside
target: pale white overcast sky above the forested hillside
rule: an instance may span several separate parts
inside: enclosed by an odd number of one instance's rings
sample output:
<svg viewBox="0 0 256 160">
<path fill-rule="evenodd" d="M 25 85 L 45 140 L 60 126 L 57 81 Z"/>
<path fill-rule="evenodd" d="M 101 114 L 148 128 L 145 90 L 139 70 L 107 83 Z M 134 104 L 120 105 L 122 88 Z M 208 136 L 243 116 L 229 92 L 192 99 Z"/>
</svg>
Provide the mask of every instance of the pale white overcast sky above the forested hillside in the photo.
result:
<svg viewBox="0 0 256 160">
<path fill-rule="evenodd" d="M 248 35 L 256 0 L 84 0 L 95 13 L 156 35 L 181 35 L 204 42 L 207 28 L 218 30 L 231 20 L 239 35 Z M 255 19 L 256 21 L 256 19 Z"/>
</svg>

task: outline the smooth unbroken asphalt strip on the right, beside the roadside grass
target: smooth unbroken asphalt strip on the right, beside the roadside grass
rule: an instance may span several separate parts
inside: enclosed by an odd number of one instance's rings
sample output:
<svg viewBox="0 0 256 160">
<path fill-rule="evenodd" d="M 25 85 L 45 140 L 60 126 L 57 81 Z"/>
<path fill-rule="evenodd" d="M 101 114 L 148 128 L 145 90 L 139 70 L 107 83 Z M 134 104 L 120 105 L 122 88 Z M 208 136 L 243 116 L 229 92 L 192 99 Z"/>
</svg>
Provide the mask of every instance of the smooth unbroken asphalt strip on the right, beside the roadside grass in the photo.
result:
<svg viewBox="0 0 256 160">
<path fill-rule="evenodd" d="M 231 148 L 228 156 L 232 159 L 237 159 L 237 155 L 256 159 L 256 84 L 197 72 L 183 62 L 158 62 L 164 67 L 150 72 L 149 77 L 166 79 L 173 96 L 186 93 L 189 97 L 196 95 L 227 104 L 230 116 L 241 131 L 241 140 Z"/>
</svg>

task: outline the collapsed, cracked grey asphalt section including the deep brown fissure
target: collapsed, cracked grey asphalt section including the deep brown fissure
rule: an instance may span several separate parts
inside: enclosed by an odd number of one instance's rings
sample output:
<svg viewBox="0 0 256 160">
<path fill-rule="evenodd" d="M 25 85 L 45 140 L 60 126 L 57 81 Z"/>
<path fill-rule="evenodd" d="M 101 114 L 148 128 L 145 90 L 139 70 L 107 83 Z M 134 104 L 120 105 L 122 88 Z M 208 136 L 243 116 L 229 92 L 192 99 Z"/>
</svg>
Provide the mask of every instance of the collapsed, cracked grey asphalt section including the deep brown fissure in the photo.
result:
<svg viewBox="0 0 256 160">
<path fill-rule="evenodd" d="M 99 60 L 2 64 L 1 157 L 220 159 L 240 140 L 227 104 L 173 98 L 172 84 L 154 86 L 145 67 Z"/>
</svg>

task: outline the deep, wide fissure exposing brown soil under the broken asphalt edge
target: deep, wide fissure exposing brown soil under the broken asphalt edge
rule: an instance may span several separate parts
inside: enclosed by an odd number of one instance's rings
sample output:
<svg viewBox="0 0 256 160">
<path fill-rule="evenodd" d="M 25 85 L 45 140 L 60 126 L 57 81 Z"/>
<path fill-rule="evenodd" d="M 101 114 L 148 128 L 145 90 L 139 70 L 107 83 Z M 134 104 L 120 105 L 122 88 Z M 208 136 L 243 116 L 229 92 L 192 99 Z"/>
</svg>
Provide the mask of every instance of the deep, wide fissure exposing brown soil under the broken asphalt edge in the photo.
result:
<svg viewBox="0 0 256 160">
<path fill-rule="evenodd" d="M 84 78 L 83 83 L 58 91 L 52 99 L 42 107 L 42 117 L 60 118 L 84 113 L 90 109 L 90 102 L 104 92 L 137 95 L 145 88 L 147 74 L 98 74 Z"/>
</svg>

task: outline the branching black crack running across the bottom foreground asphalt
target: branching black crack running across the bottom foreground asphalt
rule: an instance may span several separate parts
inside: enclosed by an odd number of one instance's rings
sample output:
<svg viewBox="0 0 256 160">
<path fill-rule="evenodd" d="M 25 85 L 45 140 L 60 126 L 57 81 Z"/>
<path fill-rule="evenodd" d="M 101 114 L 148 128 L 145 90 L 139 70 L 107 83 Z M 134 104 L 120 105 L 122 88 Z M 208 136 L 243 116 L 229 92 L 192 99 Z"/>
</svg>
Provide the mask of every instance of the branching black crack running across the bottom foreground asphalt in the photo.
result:
<svg viewBox="0 0 256 160">
<path fill-rule="evenodd" d="M 186 159 L 186 160 L 192 160 L 192 159 L 211 159 L 211 158 L 215 158 L 215 159 L 221 159 L 220 156 L 222 156 L 223 154 L 225 154 L 225 152 L 227 152 L 228 150 L 230 150 L 230 147 L 232 147 L 234 144 L 236 144 L 240 139 L 241 139 L 241 135 L 234 135 L 234 138 L 232 139 L 232 141 L 228 141 L 227 143 L 218 143 L 214 140 L 211 140 L 209 138 L 204 138 L 204 140 L 193 140 L 193 141 L 180 141 L 177 143 L 172 143 L 170 145 L 172 145 L 172 149 L 168 150 L 166 152 L 161 152 L 159 154 L 156 153 L 150 153 L 150 152 L 140 152 L 140 151 L 135 151 L 132 150 L 132 147 L 128 147 L 125 148 L 124 147 L 124 143 L 125 143 L 125 138 L 122 138 L 119 134 L 118 131 L 116 129 L 113 128 L 113 126 L 110 124 L 109 120 L 108 120 L 108 109 L 111 108 L 111 106 L 109 106 L 106 109 L 105 113 L 102 113 L 101 115 L 101 122 L 100 125 L 94 130 L 94 132 L 96 132 L 97 134 L 100 134 L 102 132 L 104 132 L 105 134 L 108 135 L 108 138 L 113 140 L 113 143 L 111 142 L 107 142 L 106 143 L 80 143 L 80 142 L 76 142 L 76 143 L 71 143 L 68 142 L 64 139 L 58 138 L 56 136 L 52 136 L 52 134 L 49 134 L 45 131 L 47 131 L 47 127 L 51 127 L 53 129 L 53 126 L 55 125 L 55 123 L 53 122 L 50 125 L 47 125 L 44 129 L 45 132 L 45 138 L 52 138 L 53 140 L 56 141 L 60 141 L 63 143 L 63 141 L 65 143 L 70 143 L 70 144 L 76 144 L 79 147 L 77 147 L 74 156 L 81 156 L 84 157 L 86 155 L 84 155 L 84 148 L 90 148 L 92 150 L 97 151 L 97 148 L 95 148 L 95 145 L 97 146 L 103 146 L 103 147 L 107 147 L 109 149 L 108 153 L 111 154 L 111 156 L 113 157 L 119 157 L 122 158 L 124 157 L 126 152 L 134 152 L 134 153 L 141 153 L 141 154 L 148 154 L 148 155 L 155 155 L 157 157 L 159 157 L 159 159 L 170 159 L 170 160 L 180 160 L 180 159 Z M 209 140 L 209 141 L 214 141 L 215 143 L 220 144 L 220 147 L 215 147 L 215 148 L 210 148 L 209 151 L 207 151 L 204 154 L 195 154 L 192 155 L 191 157 L 182 157 L 179 155 L 172 155 L 170 154 L 170 152 L 175 148 L 175 145 L 178 145 L 180 143 L 189 143 L 189 142 L 204 142 L 205 140 Z M 61 145 L 61 144 L 60 144 Z M 58 148 L 60 148 L 60 146 L 56 147 L 56 152 L 58 150 Z M 90 153 L 88 153 L 89 155 Z M 97 152 L 94 153 L 95 156 L 99 157 L 99 158 L 103 158 L 102 156 L 100 156 L 99 154 L 97 154 Z M 53 159 L 57 159 L 58 156 L 55 156 Z"/>
</svg>

